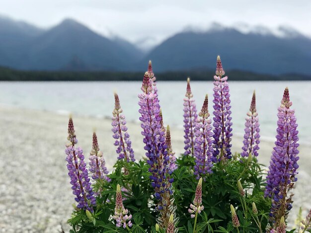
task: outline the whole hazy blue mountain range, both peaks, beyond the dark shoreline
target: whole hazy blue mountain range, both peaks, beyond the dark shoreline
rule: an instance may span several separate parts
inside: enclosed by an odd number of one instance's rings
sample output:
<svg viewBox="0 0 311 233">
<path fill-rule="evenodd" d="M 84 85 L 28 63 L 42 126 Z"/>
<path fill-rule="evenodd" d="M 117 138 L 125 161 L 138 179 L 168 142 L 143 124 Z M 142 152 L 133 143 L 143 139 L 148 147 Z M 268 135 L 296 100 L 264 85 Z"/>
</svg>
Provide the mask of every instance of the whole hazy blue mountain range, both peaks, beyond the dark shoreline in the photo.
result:
<svg viewBox="0 0 311 233">
<path fill-rule="evenodd" d="M 311 39 L 291 28 L 278 35 L 264 27 L 214 24 L 172 35 L 146 52 L 118 37 L 107 38 L 66 19 L 48 30 L 0 17 L 0 66 L 44 71 L 211 70 L 221 55 L 226 70 L 310 75 Z M 146 37 L 148 38 L 148 37 Z"/>
</svg>

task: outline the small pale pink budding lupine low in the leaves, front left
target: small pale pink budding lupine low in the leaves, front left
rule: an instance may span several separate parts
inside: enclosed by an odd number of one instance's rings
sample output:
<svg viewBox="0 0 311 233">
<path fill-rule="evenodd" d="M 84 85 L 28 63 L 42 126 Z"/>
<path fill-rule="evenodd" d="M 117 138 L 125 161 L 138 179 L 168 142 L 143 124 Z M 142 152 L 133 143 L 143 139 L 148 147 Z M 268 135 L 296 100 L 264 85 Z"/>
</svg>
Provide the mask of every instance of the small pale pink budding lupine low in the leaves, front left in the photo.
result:
<svg viewBox="0 0 311 233">
<path fill-rule="evenodd" d="M 116 192 L 116 207 L 114 208 L 114 216 L 112 216 L 112 218 L 116 220 L 116 226 L 118 228 L 123 227 L 126 229 L 127 227 L 133 226 L 131 222 L 132 215 L 128 215 L 128 213 L 128 209 L 125 209 L 123 206 L 121 188 L 118 184 Z"/>
</svg>

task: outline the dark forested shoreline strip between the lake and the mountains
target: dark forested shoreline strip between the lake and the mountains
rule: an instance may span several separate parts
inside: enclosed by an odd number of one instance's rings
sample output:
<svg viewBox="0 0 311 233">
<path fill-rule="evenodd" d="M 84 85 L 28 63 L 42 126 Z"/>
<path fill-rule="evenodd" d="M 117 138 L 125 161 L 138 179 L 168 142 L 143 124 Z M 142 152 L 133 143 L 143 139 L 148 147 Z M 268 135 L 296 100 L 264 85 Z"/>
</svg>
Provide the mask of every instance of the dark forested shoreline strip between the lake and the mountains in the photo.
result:
<svg viewBox="0 0 311 233">
<path fill-rule="evenodd" d="M 182 81 L 190 77 L 193 81 L 206 81 L 214 77 L 215 71 L 168 71 L 156 72 L 161 81 Z M 231 81 L 298 81 L 311 80 L 311 75 L 270 75 L 247 71 L 229 70 Z M 141 81 L 144 72 L 112 71 L 18 71 L 0 68 L 0 81 Z"/>
</svg>

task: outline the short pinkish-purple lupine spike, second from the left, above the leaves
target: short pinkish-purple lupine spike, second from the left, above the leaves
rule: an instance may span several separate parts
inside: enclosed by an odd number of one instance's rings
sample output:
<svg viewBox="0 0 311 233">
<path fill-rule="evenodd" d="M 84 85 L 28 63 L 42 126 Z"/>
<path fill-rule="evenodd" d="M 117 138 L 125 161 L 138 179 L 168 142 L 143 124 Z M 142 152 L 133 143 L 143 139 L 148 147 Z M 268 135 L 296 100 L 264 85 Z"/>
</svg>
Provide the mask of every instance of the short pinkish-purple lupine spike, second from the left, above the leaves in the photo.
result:
<svg viewBox="0 0 311 233">
<path fill-rule="evenodd" d="M 89 156 L 89 172 L 92 174 L 92 179 L 105 179 L 110 182 L 111 179 L 107 176 L 108 170 L 102 152 L 99 150 L 96 133 L 93 133 L 93 146 Z"/>
</svg>

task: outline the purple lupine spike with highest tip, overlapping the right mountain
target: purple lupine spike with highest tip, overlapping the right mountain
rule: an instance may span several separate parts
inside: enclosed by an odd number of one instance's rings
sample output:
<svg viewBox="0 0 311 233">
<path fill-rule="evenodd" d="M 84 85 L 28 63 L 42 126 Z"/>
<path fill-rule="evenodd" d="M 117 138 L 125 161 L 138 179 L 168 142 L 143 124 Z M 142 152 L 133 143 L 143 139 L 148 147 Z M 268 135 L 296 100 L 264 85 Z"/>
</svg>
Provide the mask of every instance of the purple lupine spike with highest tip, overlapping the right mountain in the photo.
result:
<svg viewBox="0 0 311 233">
<path fill-rule="evenodd" d="M 214 162 L 226 160 L 232 157 L 231 155 L 231 137 L 232 137 L 232 122 L 231 122 L 231 105 L 228 77 L 222 78 L 225 75 L 220 57 L 217 57 L 216 76 L 214 76 Z"/>
</svg>

